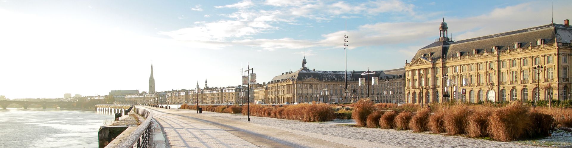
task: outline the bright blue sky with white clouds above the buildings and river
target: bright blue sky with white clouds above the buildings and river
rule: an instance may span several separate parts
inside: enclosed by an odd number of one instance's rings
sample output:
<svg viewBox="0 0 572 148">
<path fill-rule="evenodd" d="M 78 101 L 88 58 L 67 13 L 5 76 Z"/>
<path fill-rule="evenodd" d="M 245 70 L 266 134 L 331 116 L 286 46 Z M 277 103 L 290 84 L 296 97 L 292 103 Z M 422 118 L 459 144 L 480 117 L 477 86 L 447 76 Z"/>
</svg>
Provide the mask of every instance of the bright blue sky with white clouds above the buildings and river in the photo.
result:
<svg viewBox="0 0 572 148">
<path fill-rule="evenodd" d="M 0 95 L 59 98 L 240 85 L 301 68 L 403 68 L 439 37 L 572 19 L 569 1 L 0 1 Z"/>
</svg>

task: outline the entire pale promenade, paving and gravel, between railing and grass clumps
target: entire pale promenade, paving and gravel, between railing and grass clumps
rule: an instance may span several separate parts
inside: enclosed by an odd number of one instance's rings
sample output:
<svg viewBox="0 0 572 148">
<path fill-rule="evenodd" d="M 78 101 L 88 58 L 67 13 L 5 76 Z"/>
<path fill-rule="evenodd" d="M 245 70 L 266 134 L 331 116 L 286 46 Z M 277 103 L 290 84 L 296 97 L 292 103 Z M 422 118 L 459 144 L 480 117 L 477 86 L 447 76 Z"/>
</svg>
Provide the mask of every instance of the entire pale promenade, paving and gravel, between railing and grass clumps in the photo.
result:
<svg viewBox="0 0 572 148">
<path fill-rule="evenodd" d="M 534 147 L 196 110 L 154 109 L 172 147 Z"/>
</svg>

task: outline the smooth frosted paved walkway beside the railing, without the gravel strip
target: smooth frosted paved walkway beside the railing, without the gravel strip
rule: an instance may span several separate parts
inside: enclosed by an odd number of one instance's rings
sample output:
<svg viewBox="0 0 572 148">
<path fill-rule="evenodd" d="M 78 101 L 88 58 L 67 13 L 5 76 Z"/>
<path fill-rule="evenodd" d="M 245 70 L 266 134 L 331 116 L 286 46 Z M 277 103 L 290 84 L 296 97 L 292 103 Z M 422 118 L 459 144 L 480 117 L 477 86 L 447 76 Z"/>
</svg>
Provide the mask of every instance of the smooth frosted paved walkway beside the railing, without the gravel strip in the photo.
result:
<svg viewBox="0 0 572 148">
<path fill-rule="evenodd" d="M 170 147 L 395 147 L 214 117 L 210 115 L 218 113 L 212 112 L 148 108 L 153 109 Z"/>
</svg>

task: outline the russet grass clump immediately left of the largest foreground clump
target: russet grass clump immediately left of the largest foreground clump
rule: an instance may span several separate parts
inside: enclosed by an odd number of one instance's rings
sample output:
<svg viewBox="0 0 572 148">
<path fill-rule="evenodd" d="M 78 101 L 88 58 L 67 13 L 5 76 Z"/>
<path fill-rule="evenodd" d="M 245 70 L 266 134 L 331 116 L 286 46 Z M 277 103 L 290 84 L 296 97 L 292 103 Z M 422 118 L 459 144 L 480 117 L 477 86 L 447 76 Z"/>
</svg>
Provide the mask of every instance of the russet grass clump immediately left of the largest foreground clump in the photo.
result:
<svg viewBox="0 0 572 148">
<path fill-rule="evenodd" d="M 493 108 L 478 106 L 473 109 L 473 113 L 467 117 L 468 137 L 488 137 L 488 117 L 491 116 Z"/>
</svg>

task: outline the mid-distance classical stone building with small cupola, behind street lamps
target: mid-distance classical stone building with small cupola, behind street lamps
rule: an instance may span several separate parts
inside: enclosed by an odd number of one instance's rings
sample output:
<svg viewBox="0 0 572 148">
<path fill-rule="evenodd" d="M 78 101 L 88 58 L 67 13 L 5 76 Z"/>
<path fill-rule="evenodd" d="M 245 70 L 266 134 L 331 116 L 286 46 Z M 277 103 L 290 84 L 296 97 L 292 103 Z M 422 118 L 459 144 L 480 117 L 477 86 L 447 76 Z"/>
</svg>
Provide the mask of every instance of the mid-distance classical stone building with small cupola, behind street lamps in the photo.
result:
<svg viewBox="0 0 572 148">
<path fill-rule="evenodd" d="M 285 72 L 275 76 L 268 83 L 268 104 L 284 104 L 285 102 L 345 102 L 344 94 L 357 98 L 371 98 L 376 102 L 403 101 L 404 68 L 388 71 L 370 71 L 372 74 L 362 75 L 365 71 L 316 71 L 308 69 L 307 60 L 302 60 L 302 68 L 296 72 Z M 375 72 L 375 74 L 373 74 Z M 342 88 L 344 78 L 348 77 L 348 92 Z M 371 85 L 372 77 L 378 77 L 378 83 Z M 359 86 L 359 79 L 369 83 Z M 387 80 L 387 81 L 386 81 Z M 369 89 L 368 89 L 368 85 Z M 369 90 L 369 91 L 368 91 Z M 328 93 L 325 93 L 328 92 Z M 352 100 L 348 99 L 348 102 Z M 356 101 L 356 100 L 353 100 Z"/>
</svg>

